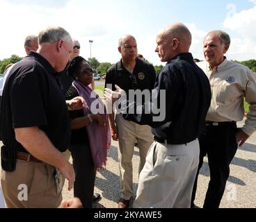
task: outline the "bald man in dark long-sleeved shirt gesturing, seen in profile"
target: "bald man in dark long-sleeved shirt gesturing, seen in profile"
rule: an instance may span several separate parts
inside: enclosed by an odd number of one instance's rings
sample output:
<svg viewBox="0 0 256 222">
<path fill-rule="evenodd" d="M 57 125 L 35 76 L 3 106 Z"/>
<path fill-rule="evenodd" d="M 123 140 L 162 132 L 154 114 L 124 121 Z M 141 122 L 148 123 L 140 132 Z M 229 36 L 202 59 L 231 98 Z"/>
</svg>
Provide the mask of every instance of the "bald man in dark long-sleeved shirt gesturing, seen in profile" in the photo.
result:
<svg viewBox="0 0 256 222">
<path fill-rule="evenodd" d="M 184 24 L 172 24 L 157 35 L 155 50 L 161 62 L 167 62 L 157 76 L 152 103 L 145 110 L 160 106 L 163 119 L 157 113 L 123 114 L 124 119 L 152 127 L 154 143 L 138 180 L 134 207 L 189 208 L 193 182 L 198 169 L 198 136 L 205 127 L 205 116 L 211 101 L 209 80 L 189 53 L 191 33 Z M 117 87 L 118 88 L 118 87 Z M 164 90 L 164 96 L 161 92 Z M 121 95 L 105 90 L 106 99 Z M 150 104 L 150 108 L 147 107 Z M 129 108 L 132 106 L 129 103 Z"/>
</svg>

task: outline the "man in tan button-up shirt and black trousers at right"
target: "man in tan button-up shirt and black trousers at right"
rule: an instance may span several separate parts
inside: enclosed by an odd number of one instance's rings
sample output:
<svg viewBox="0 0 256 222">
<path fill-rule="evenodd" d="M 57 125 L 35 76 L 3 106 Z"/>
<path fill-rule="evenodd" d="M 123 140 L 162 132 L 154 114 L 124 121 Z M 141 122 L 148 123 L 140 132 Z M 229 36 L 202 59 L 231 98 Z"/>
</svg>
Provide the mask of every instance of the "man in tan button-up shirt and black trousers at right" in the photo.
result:
<svg viewBox="0 0 256 222">
<path fill-rule="evenodd" d="M 207 154 L 211 180 L 204 207 L 216 208 L 221 203 L 230 175 L 230 162 L 237 146 L 256 129 L 256 76 L 243 65 L 227 61 L 224 54 L 230 47 L 230 36 L 223 31 L 211 31 L 204 39 L 205 62 L 197 65 L 205 71 L 211 85 L 211 105 L 206 117 L 206 130 L 200 137 L 200 162 Z M 246 123 L 237 128 L 244 117 L 243 98 L 250 104 Z M 195 178 L 191 207 L 194 207 L 198 174 Z"/>
</svg>

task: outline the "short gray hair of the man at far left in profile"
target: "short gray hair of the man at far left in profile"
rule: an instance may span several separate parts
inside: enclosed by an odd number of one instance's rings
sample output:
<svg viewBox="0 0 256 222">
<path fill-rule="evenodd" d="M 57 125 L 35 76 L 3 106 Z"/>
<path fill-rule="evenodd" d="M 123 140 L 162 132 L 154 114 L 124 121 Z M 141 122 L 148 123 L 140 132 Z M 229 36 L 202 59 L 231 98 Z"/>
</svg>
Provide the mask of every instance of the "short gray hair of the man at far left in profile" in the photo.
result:
<svg viewBox="0 0 256 222">
<path fill-rule="evenodd" d="M 64 28 L 50 27 L 39 33 L 38 40 L 39 44 L 56 44 L 59 40 L 72 42 L 72 37 Z"/>
</svg>

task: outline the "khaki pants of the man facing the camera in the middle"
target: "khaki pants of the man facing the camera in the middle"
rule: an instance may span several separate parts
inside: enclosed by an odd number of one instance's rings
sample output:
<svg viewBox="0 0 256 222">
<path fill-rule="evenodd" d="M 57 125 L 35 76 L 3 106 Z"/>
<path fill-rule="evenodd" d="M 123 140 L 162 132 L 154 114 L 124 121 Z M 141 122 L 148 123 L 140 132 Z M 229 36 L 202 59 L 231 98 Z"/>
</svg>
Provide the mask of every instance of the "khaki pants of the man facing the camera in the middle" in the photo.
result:
<svg viewBox="0 0 256 222">
<path fill-rule="evenodd" d="M 153 135 L 150 126 L 140 126 L 134 122 L 126 121 L 122 118 L 121 114 L 115 116 L 115 123 L 118 127 L 121 198 L 129 200 L 133 194 L 133 168 L 131 160 L 134 155 L 134 143 L 137 140 L 140 152 L 138 173 L 140 173 L 145 164 L 147 151 L 152 145 Z"/>
</svg>

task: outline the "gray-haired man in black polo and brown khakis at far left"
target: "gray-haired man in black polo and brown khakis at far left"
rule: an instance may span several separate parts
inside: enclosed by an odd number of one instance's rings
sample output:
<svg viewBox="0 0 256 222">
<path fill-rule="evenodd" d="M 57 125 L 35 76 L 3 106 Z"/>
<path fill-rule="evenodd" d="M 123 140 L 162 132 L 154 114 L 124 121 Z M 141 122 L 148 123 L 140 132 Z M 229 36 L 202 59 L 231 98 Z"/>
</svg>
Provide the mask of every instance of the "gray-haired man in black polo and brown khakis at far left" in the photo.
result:
<svg viewBox="0 0 256 222">
<path fill-rule="evenodd" d="M 56 78 L 67 64 L 72 39 L 54 27 L 41 31 L 38 40 L 38 53 L 30 51 L 13 66 L 3 89 L 1 187 L 7 207 L 58 207 L 61 173 L 68 189 L 74 182 L 74 169 L 63 155 L 70 120 Z M 81 99 L 68 104 L 81 107 Z"/>
</svg>

